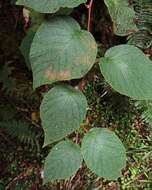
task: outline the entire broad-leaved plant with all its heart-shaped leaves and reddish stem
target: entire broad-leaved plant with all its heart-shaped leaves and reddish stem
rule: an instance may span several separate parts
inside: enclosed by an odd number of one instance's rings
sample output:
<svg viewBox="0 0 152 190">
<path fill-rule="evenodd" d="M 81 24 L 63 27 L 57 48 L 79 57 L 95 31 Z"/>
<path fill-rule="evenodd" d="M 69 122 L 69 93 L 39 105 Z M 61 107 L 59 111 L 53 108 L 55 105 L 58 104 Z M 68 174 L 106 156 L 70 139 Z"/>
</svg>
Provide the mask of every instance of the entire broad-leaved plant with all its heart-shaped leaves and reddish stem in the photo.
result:
<svg viewBox="0 0 152 190">
<path fill-rule="evenodd" d="M 128 0 L 104 0 L 104 3 L 114 33 L 128 36 L 129 42 L 111 47 L 100 57 L 91 34 L 91 13 L 96 0 L 17 0 L 17 5 L 26 8 L 27 22 L 28 9 L 37 18 L 21 45 L 33 72 L 33 88 L 48 89 L 40 106 L 43 146 L 55 145 L 45 159 L 44 183 L 69 178 L 83 161 L 91 171 L 108 180 L 120 177 L 126 165 L 122 142 L 106 128 L 90 129 L 81 143 L 69 138 L 86 119 L 83 78 L 94 64 L 99 65 L 101 75 L 115 91 L 134 100 L 152 99 L 152 62 L 135 47 L 136 43 L 131 45 L 136 34 L 141 33 L 141 25 L 135 23 L 134 4 Z M 69 16 L 80 4 L 88 10 L 87 29 Z M 150 1 L 147 5 L 151 5 Z M 80 80 L 79 85 L 71 86 L 70 81 L 76 79 Z"/>
</svg>

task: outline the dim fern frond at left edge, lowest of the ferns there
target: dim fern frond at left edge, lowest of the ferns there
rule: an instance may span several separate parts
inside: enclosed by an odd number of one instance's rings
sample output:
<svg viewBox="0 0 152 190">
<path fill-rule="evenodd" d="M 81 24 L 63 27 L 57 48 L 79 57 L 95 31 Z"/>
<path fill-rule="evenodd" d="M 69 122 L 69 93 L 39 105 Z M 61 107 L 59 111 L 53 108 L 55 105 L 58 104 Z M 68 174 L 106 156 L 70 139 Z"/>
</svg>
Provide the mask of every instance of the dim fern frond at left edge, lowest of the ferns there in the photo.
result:
<svg viewBox="0 0 152 190">
<path fill-rule="evenodd" d="M 37 135 L 29 123 L 15 120 L 0 122 L 0 128 L 23 144 L 34 147 L 36 143 Z"/>
</svg>

